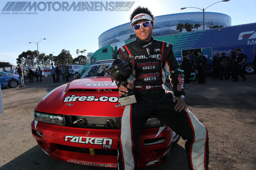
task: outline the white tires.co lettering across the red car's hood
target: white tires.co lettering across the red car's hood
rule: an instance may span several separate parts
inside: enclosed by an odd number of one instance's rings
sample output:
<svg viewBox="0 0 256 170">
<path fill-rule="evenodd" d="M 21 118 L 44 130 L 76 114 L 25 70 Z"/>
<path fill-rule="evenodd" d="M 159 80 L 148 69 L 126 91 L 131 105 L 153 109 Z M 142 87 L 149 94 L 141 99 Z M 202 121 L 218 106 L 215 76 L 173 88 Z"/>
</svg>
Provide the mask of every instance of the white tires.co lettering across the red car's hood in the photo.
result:
<svg viewBox="0 0 256 170">
<path fill-rule="evenodd" d="M 71 96 L 67 96 L 64 98 L 64 103 L 66 102 L 76 102 L 76 101 L 79 101 L 79 102 L 83 102 L 83 101 L 95 101 L 95 102 L 112 102 L 112 103 L 115 103 L 115 102 L 118 102 L 118 98 L 115 97 L 115 96 L 111 96 L 111 97 L 108 97 L 108 96 L 101 96 L 99 98 L 96 98 L 95 96 L 75 96 L 75 95 L 71 95 Z"/>
</svg>

